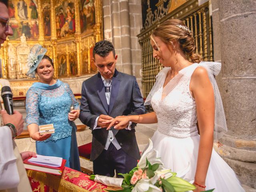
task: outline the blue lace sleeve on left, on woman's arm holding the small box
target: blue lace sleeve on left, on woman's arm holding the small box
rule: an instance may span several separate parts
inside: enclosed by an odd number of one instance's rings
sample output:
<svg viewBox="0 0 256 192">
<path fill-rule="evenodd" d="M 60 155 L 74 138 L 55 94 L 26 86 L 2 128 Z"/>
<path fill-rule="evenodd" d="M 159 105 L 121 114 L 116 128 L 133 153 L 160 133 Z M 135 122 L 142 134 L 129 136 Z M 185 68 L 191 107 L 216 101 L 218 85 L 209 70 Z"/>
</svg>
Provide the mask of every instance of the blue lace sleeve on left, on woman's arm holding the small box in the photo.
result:
<svg viewBox="0 0 256 192">
<path fill-rule="evenodd" d="M 35 123 L 39 125 L 39 110 L 38 110 L 39 90 L 31 87 L 26 94 L 26 124 Z"/>
</svg>

